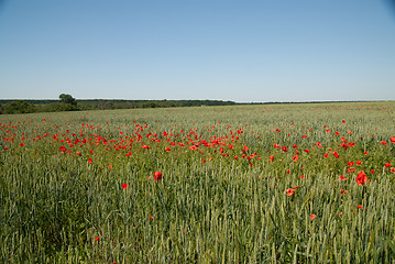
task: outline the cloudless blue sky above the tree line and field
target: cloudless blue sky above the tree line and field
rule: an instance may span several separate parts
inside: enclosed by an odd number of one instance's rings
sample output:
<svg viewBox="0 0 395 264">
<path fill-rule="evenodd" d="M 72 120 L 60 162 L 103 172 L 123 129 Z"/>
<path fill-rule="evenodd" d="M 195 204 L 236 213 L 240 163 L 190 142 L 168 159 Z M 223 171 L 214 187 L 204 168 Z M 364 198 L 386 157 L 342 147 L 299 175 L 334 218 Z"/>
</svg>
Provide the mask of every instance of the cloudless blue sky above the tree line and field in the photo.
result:
<svg viewBox="0 0 395 264">
<path fill-rule="evenodd" d="M 387 0 L 0 0 L 0 98 L 395 100 Z"/>
</svg>

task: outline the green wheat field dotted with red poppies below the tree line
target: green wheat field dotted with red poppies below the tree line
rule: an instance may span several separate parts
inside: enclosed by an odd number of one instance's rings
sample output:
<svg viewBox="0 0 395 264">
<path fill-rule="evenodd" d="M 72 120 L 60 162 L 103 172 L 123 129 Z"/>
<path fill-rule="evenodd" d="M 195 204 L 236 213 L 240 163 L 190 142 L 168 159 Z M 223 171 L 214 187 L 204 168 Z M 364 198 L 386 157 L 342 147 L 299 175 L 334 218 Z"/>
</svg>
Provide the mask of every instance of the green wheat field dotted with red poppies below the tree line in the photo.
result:
<svg viewBox="0 0 395 264">
<path fill-rule="evenodd" d="M 0 116 L 0 262 L 394 263 L 394 110 Z"/>
</svg>

